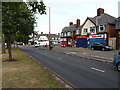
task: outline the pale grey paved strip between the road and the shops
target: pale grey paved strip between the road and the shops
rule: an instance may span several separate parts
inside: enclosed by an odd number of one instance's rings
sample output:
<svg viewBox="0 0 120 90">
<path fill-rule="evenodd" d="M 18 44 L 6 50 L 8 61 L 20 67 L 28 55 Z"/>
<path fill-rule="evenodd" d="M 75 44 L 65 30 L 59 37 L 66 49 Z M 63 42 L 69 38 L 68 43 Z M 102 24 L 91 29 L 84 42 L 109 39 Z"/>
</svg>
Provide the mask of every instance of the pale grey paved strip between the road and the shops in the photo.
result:
<svg viewBox="0 0 120 90">
<path fill-rule="evenodd" d="M 49 50 L 49 47 L 38 47 L 42 50 Z M 102 62 L 112 63 L 114 60 L 114 55 L 117 50 L 111 51 L 99 51 L 99 50 L 91 50 L 88 48 L 76 48 L 76 47 L 53 47 L 51 50 L 53 52 L 73 55 L 73 56 L 80 56 L 87 59 L 94 59 Z"/>
</svg>

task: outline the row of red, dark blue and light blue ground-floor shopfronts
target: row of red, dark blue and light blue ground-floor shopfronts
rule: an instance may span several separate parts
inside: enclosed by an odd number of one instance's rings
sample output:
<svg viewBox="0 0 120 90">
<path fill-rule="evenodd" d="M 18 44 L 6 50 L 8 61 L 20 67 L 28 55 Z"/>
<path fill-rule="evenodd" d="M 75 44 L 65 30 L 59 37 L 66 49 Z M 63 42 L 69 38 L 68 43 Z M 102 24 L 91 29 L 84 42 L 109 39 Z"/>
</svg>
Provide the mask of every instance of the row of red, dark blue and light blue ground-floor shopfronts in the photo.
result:
<svg viewBox="0 0 120 90">
<path fill-rule="evenodd" d="M 107 33 L 104 34 L 94 34 L 94 35 L 80 35 L 76 36 L 75 40 L 72 38 L 62 38 L 62 45 L 66 47 L 91 47 L 93 43 L 106 43 L 108 44 Z"/>
</svg>

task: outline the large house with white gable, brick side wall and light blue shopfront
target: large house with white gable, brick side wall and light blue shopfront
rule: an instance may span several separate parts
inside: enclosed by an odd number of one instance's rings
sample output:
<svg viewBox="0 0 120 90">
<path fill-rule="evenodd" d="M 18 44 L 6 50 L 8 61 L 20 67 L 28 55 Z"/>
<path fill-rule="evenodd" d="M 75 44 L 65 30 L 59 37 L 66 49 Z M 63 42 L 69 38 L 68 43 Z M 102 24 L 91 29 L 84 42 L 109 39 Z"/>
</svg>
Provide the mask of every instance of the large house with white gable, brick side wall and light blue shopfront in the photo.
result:
<svg viewBox="0 0 120 90">
<path fill-rule="evenodd" d="M 98 8 L 97 16 L 93 18 L 88 17 L 85 20 L 81 29 L 81 36 L 85 37 L 86 35 L 85 38 L 88 39 L 89 46 L 95 42 L 101 42 L 111 45 L 114 49 L 116 49 L 117 31 L 115 29 L 115 20 L 115 17 L 104 13 L 103 8 Z M 87 40 L 83 43 L 87 44 Z"/>
</svg>

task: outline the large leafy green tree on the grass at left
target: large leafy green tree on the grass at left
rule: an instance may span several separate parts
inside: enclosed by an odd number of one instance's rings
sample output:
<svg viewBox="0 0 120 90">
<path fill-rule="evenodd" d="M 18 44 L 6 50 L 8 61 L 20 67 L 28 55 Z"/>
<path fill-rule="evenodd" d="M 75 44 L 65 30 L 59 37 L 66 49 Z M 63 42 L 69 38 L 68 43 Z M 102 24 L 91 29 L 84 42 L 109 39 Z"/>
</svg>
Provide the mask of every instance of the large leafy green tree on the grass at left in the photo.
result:
<svg viewBox="0 0 120 90">
<path fill-rule="evenodd" d="M 31 10 L 30 7 L 32 6 Z M 38 6 L 37 6 L 38 5 Z M 9 60 L 12 61 L 11 42 L 14 39 L 28 38 L 27 36 L 33 33 L 35 16 L 37 12 L 45 13 L 45 6 L 43 2 L 32 2 L 28 4 L 24 2 L 2 2 L 2 32 L 8 44 Z M 41 8 L 40 8 L 41 7 Z M 36 10 L 35 10 L 36 9 Z"/>
</svg>

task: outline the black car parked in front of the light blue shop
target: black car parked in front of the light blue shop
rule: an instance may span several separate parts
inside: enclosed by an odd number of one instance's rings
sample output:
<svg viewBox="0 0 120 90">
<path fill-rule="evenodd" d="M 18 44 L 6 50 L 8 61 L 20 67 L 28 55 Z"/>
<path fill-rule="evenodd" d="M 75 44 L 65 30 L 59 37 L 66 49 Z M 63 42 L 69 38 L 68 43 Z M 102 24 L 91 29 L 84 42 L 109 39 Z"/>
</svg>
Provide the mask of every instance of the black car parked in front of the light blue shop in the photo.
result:
<svg viewBox="0 0 120 90">
<path fill-rule="evenodd" d="M 106 45 L 105 43 L 94 43 L 94 44 L 91 45 L 91 49 L 92 50 L 102 50 L 102 51 L 105 51 L 105 50 L 111 50 L 112 47 Z"/>
</svg>

